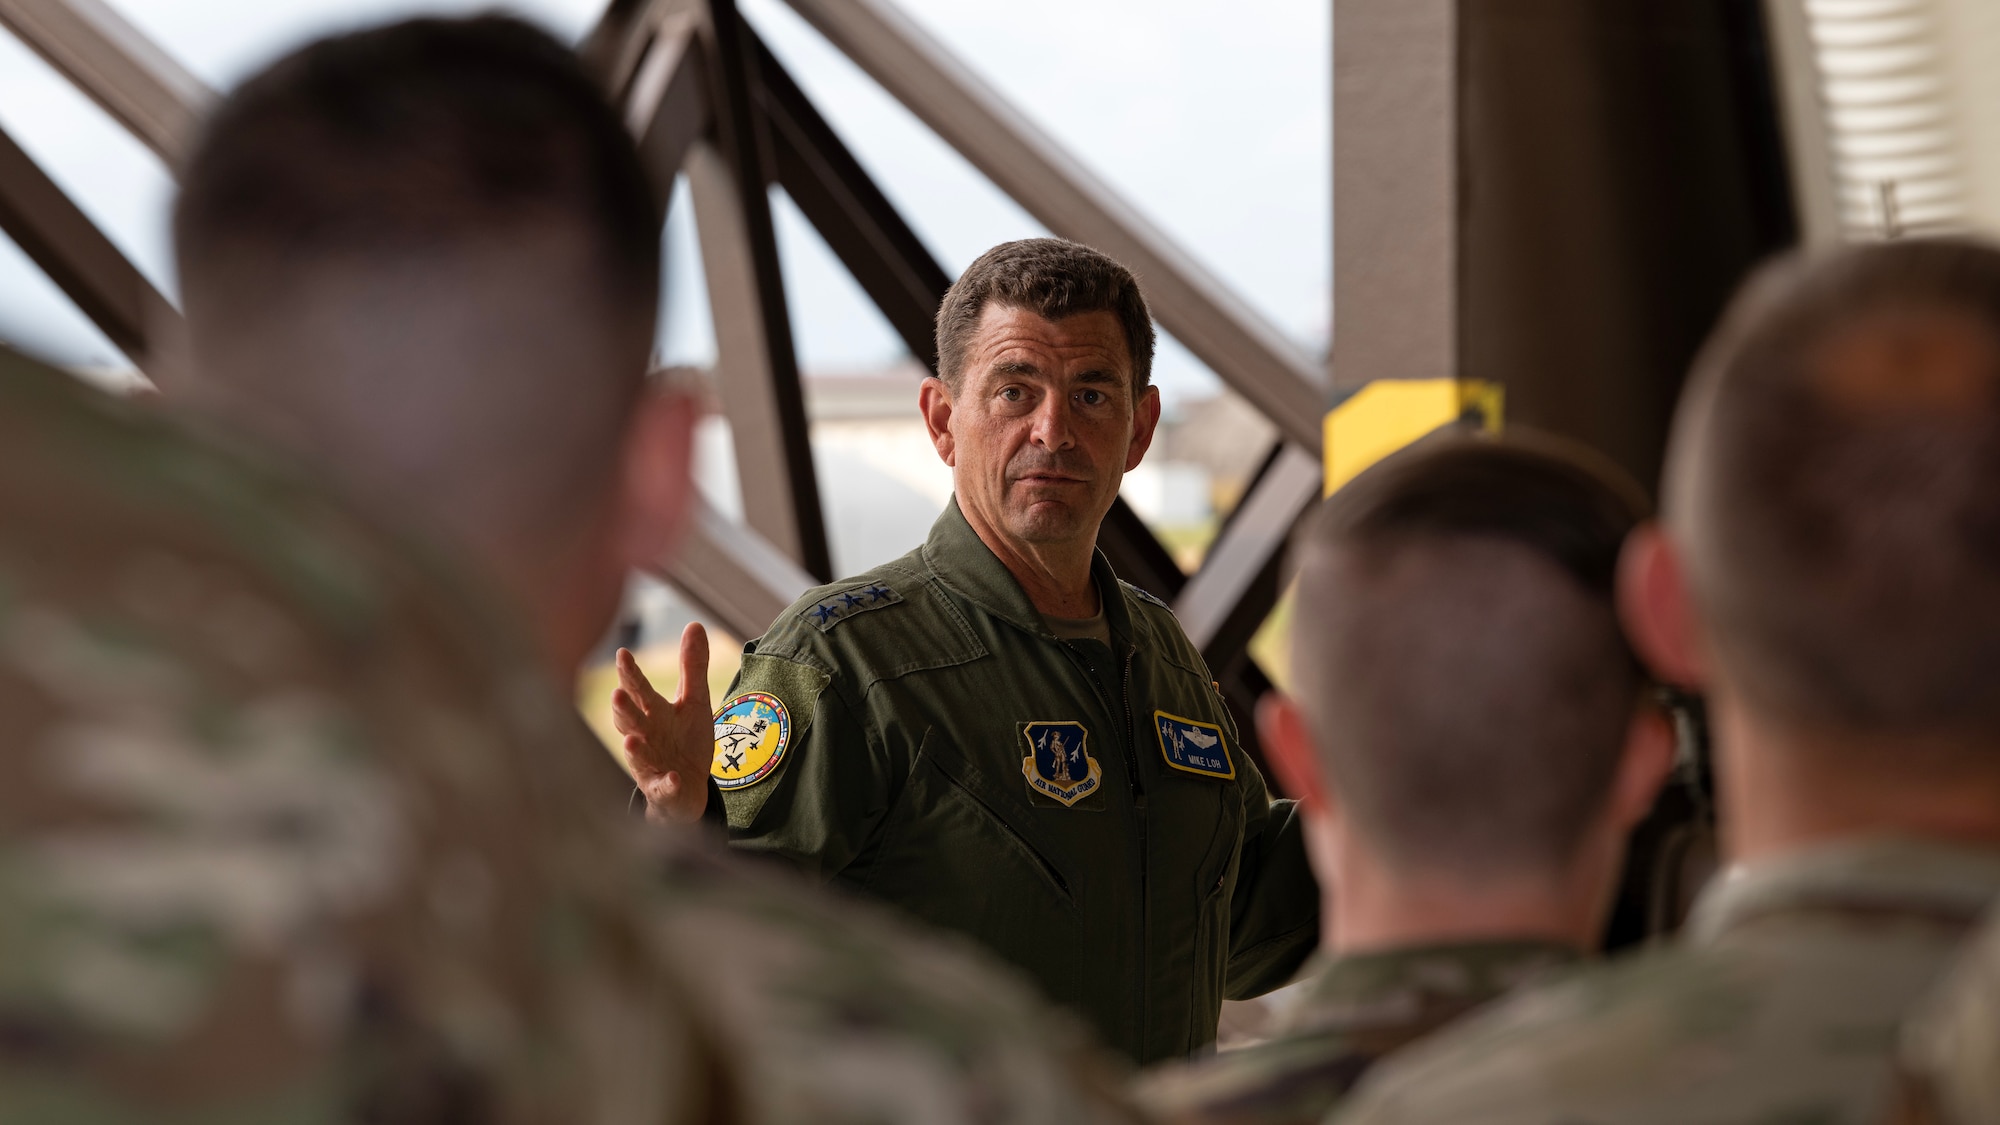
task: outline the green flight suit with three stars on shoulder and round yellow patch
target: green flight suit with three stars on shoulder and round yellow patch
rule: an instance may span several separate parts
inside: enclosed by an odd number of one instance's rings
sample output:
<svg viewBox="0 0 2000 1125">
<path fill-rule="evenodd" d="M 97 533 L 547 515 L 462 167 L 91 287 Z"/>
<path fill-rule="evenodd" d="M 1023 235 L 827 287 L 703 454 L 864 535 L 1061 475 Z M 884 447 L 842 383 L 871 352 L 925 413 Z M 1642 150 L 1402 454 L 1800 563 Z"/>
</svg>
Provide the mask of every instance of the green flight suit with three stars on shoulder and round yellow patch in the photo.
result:
<svg viewBox="0 0 2000 1125">
<path fill-rule="evenodd" d="M 744 647 L 712 777 L 736 847 L 972 935 L 1150 1063 L 1290 979 L 1320 897 L 1180 623 L 1092 573 L 1110 649 L 1056 639 L 954 500 Z"/>
</svg>

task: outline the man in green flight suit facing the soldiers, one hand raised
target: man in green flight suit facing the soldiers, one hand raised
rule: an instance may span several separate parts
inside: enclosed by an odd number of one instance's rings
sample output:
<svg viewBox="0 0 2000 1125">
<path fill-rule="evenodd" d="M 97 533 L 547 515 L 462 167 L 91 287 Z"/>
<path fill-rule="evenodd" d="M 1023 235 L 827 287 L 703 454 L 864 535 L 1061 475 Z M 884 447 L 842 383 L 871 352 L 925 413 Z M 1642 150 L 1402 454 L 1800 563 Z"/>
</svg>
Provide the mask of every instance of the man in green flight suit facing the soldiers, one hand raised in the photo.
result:
<svg viewBox="0 0 2000 1125">
<path fill-rule="evenodd" d="M 736 847 L 976 937 L 1142 1063 L 1286 983 L 1320 903 L 1200 653 L 1096 552 L 1160 418 L 1152 346 L 1118 262 L 988 250 L 920 390 L 956 490 L 924 546 L 786 611 L 712 729 L 628 657 L 614 697 L 654 813 L 698 817 L 706 771 Z"/>
</svg>

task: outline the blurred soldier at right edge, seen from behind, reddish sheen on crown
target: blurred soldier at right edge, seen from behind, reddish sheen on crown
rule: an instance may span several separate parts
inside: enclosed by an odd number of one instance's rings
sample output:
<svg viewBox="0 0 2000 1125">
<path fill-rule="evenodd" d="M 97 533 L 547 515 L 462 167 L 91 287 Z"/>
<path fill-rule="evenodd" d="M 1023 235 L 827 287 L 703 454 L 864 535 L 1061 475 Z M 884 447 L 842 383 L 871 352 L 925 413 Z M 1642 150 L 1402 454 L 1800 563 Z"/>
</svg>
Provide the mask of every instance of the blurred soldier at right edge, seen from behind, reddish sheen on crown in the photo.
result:
<svg viewBox="0 0 2000 1125">
<path fill-rule="evenodd" d="M 1626 625 L 1716 723 L 1734 863 L 1678 947 L 1380 1067 L 1350 1121 L 1876 1121 L 2000 891 L 2000 252 L 1764 272 L 1698 364 Z"/>
</svg>

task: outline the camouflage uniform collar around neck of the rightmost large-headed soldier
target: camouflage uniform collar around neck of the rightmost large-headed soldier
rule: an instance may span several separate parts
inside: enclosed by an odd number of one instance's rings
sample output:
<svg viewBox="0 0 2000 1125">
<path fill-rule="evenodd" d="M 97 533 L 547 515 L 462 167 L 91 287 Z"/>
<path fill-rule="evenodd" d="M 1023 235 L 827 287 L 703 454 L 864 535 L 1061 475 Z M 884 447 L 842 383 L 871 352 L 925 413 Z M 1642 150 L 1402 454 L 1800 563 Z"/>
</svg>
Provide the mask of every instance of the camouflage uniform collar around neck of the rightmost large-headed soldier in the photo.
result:
<svg viewBox="0 0 2000 1125">
<path fill-rule="evenodd" d="M 1918 917 L 1972 925 L 2000 895 L 2000 851 L 1870 837 L 1730 867 L 1688 917 L 1688 939 L 1782 915 Z"/>
</svg>

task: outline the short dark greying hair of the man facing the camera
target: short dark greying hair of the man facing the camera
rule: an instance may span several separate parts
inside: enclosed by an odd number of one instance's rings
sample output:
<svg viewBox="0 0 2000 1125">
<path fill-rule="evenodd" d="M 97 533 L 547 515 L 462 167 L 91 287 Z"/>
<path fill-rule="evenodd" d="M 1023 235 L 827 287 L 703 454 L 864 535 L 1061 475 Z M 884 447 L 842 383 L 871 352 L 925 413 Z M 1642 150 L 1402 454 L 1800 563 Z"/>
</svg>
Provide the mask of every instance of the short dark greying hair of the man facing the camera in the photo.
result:
<svg viewBox="0 0 2000 1125">
<path fill-rule="evenodd" d="M 1044 320 L 1110 312 L 1132 358 L 1132 390 L 1152 382 L 1152 314 L 1132 270 L 1066 238 L 1002 242 L 978 256 L 938 306 L 938 374 L 952 390 L 964 376 L 966 344 L 988 304 L 1026 308 Z"/>
</svg>

